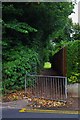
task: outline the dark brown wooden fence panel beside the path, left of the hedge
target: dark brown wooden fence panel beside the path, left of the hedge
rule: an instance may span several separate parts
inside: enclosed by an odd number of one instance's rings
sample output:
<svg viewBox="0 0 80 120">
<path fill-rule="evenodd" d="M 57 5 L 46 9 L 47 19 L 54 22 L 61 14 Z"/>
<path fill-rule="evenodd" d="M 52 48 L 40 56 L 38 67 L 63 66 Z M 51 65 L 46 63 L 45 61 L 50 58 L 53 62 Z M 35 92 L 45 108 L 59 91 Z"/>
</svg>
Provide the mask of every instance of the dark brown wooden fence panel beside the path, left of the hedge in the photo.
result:
<svg viewBox="0 0 80 120">
<path fill-rule="evenodd" d="M 66 47 L 57 52 L 51 60 L 52 69 L 57 72 L 58 76 L 66 76 L 67 64 L 66 64 Z"/>
</svg>

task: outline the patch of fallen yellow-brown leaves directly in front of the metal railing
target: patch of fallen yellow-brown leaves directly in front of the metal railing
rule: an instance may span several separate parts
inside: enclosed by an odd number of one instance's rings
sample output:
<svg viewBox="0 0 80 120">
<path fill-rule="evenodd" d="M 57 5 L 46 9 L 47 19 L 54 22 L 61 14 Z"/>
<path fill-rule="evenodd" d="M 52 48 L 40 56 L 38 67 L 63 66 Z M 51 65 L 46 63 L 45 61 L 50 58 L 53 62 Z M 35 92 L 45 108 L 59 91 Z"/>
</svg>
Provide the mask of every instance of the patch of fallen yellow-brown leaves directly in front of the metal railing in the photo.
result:
<svg viewBox="0 0 80 120">
<path fill-rule="evenodd" d="M 62 101 L 56 101 L 56 100 L 47 100 L 43 98 L 33 98 L 33 99 L 28 99 L 29 104 L 28 106 L 32 108 L 54 108 L 54 107 L 60 107 L 60 106 L 65 106 L 66 102 Z"/>
</svg>

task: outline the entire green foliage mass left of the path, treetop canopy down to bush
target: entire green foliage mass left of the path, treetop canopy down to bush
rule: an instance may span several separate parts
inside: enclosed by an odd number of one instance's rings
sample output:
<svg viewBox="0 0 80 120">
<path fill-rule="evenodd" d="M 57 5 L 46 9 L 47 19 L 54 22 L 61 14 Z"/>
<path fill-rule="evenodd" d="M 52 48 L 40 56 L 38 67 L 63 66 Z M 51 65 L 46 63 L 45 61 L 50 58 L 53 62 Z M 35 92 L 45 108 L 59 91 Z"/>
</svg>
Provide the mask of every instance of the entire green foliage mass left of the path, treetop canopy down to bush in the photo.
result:
<svg viewBox="0 0 80 120">
<path fill-rule="evenodd" d="M 24 88 L 25 72 L 36 73 L 60 50 L 58 45 L 54 52 L 53 41 L 69 39 L 73 8 L 71 2 L 2 4 L 4 91 Z"/>
</svg>

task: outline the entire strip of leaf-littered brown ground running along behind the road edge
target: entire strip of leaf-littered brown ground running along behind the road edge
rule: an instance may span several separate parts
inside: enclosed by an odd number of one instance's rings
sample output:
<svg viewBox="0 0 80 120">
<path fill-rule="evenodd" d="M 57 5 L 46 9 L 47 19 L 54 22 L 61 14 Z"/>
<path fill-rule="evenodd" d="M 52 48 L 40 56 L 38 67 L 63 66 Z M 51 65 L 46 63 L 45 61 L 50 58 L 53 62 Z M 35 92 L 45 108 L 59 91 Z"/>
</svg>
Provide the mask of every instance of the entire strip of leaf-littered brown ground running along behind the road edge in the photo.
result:
<svg viewBox="0 0 80 120">
<path fill-rule="evenodd" d="M 80 98 L 67 98 L 66 101 L 58 101 L 58 100 L 47 100 L 44 98 L 31 98 L 29 95 L 25 96 L 24 91 L 16 91 L 15 93 L 11 93 L 3 96 L 2 101 L 7 102 L 7 104 L 11 101 L 18 101 L 26 99 L 28 100 L 28 104 L 26 103 L 26 108 L 30 109 L 70 109 L 70 110 L 79 110 Z M 22 102 L 20 104 L 23 104 Z"/>
</svg>

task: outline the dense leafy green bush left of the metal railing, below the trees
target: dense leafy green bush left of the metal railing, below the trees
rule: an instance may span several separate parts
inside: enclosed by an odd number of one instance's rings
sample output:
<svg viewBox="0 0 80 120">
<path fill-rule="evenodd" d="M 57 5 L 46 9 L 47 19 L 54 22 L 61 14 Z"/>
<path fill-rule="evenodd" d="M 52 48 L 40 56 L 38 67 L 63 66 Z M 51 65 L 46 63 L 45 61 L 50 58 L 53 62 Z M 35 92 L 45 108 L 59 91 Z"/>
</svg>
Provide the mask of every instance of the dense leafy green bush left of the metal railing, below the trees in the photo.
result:
<svg viewBox="0 0 80 120">
<path fill-rule="evenodd" d="M 37 73 L 39 55 L 31 48 L 12 49 L 3 63 L 3 91 L 24 88 L 25 73 Z"/>
</svg>

